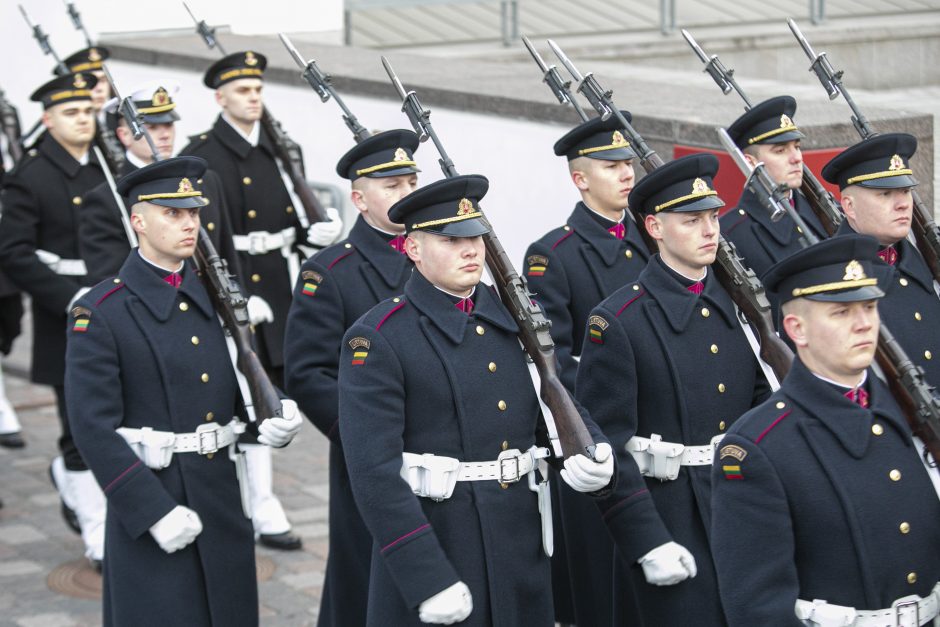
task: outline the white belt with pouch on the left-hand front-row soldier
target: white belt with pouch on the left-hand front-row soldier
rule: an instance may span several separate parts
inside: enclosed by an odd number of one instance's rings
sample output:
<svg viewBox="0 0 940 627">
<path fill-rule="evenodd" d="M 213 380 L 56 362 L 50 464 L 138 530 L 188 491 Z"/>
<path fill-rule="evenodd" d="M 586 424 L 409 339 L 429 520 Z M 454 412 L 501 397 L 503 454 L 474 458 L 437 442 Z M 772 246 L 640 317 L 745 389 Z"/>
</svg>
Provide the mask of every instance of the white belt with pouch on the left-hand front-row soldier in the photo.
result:
<svg viewBox="0 0 940 627">
<path fill-rule="evenodd" d="M 151 427 L 119 427 L 117 432 L 149 468 L 159 470 L 170 465 L 173 453 L 208 455 L 234 444 L 245 432 L 245 425 L 233 418 L 224 426 L 215 422 L 200 425 L 194 433 L 155 431 Z"/>
</svg>

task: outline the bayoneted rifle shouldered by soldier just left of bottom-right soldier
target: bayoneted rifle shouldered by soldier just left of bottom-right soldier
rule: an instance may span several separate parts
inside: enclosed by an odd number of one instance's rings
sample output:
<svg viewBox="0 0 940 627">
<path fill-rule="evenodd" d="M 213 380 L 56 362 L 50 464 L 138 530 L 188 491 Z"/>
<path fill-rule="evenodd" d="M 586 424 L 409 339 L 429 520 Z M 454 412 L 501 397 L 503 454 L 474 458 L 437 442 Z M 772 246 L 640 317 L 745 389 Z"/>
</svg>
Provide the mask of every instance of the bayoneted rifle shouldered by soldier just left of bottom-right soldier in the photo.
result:
<svg viewBox="0 0 940 627">
<path fill-rule="evenodd" d="M 620 113 L 620 109 L 612 100 L 613 92 L 604 90 L 593 73 L 588 72 L 582 75 L 554 41 L 549 39 L 548 45 L 571 76 L 578 81 L 578 92 L 587 98 L 588 102 L 600 114 L 601 119 L 607 119 L 611 115 L 617 117 L 617 121 L 629 137 L 634 151 L 639 155 L 643 169 L 652 172 L 663 165 L 662 158 L 647 145 L 643 137 Z M 656 240 L 642 226 L 645 222 L 644 216 L 640 214 L 638 208 L 631 207 L 630 210 L 637 225 L 640 226 L 640 233 L 643 235 L 643 240 L 650 252 L 659 250 Z M 767 300 L 764 286 L 761 285 L 754 271 L 744 265 L 734 244 L 726 240 L 723 235 L 718 236 L 718 253 L 712 267 L 722 287 L 725 288 L 725 291 L 731 296 L 731 300 L 734 301 L 757 332 L 760 339 L 761 359 L 771 367 L 774 374 L 777 375 L 777 380 L 783 381 L 790 370 L 793 352 L 774 330 L 773 316 L 770 313 L 770 301 Z"/>
</svg>

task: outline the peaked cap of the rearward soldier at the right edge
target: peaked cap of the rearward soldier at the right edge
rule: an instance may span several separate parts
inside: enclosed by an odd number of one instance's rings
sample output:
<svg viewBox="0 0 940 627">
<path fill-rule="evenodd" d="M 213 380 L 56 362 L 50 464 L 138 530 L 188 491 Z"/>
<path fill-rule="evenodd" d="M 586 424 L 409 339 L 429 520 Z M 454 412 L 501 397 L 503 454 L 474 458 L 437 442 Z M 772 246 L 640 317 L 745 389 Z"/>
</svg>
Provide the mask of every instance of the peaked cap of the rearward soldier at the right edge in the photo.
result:
<svg viewBox="0 0 940 627">
<path fill-rule="evenodd" d="M 875 135 L 836 155 L 825 165 L 822 175 L 839 189 L 849 185 L 876 189 L 914 187 L 917 179 L 908 163 L 915 152 L 917 138 L 913 135 Z"/>
</svg>

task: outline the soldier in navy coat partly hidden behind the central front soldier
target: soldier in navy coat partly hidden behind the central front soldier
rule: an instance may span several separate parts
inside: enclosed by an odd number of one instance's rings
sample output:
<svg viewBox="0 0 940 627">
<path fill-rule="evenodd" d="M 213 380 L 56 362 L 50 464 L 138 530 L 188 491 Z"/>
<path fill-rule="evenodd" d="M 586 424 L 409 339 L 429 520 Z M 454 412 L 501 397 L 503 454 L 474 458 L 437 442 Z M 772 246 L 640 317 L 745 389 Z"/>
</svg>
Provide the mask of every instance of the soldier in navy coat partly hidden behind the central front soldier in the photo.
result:
<svg viewBox="0 0 940 627">
<path fill-rule="evenodd" d="M 321 626 L 366 622 L 372 536 L 353 499 L 340 443 L 340 346 L 353 322 L 401 294 L 411 276 L 404 227 L 389 220 L 388 210 L 418 183 L 417 148 L 413 132 L 385 131 L 339 160 L 336 173 L 352 182 L 359 217 L 346 241 L 304 262 L 287 319 L 287 393 L 330 439 L 330 553 L 317 619 Z"/>
</svg>

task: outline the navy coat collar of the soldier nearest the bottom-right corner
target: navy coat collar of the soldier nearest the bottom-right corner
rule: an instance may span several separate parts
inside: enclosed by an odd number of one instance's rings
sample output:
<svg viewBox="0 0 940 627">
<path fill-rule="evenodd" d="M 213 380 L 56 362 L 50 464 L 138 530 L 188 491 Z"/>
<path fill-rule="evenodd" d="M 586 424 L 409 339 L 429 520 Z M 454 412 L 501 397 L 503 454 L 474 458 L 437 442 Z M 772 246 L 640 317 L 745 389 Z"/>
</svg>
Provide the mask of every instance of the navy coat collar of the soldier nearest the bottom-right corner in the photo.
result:
<svg viewBox="0 0 940 627">
<path fill-rule="evenodd" d="M 783 391 L 794 404 L 821 422 L 853 457 L 860 459 L 871 440 L 872 416 L 889 423 L 910 445 L 910 429 L 888 388 L 868 371 L 869 408 L 865 409 L 843 396 L 796 358 L 783 383 Z"/>
</svg>

